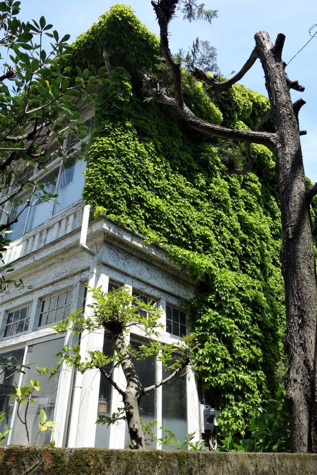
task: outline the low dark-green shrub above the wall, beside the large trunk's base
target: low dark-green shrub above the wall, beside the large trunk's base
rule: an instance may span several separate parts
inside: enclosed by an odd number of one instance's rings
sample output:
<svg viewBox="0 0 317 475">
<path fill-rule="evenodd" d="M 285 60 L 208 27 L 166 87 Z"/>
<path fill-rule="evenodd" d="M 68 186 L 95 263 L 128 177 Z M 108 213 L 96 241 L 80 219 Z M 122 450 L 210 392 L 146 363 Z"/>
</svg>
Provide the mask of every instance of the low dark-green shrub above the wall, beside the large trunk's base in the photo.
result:
<svg viewBox="0 0 317 475">
<path fill-rule="evenodd" d="M 284 391 L 269 399 L 265 411 L 257 411 L 246 428 L 249 438 L 228 436 L 220 440 L 222 452 L 289 452 L 290 421 L 284 404 Z"/>
</svg>

